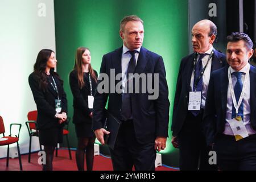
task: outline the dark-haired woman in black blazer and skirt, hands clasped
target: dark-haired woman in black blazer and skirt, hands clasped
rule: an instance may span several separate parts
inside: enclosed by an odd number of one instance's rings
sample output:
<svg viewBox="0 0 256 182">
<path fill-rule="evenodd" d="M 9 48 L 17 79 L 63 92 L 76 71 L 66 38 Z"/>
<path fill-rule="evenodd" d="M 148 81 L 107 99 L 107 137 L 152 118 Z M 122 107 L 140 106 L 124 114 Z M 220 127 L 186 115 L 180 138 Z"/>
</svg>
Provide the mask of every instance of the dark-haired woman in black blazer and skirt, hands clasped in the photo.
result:
<svg viewBox="0 0 256 182">
<path fill-rule="evenodd" d="M 38 110 L 39 140 L 46 152 L 43 171 L 52 171 L 53 152 L 57 143 L 62 143 L 63 122 L 67 119 L 67 98 L 63 81 L 54 72 L 56 63 L 55 53 L 42 49 L 36 58 L 34 72 L 28 77 Z"/>
</svg>

